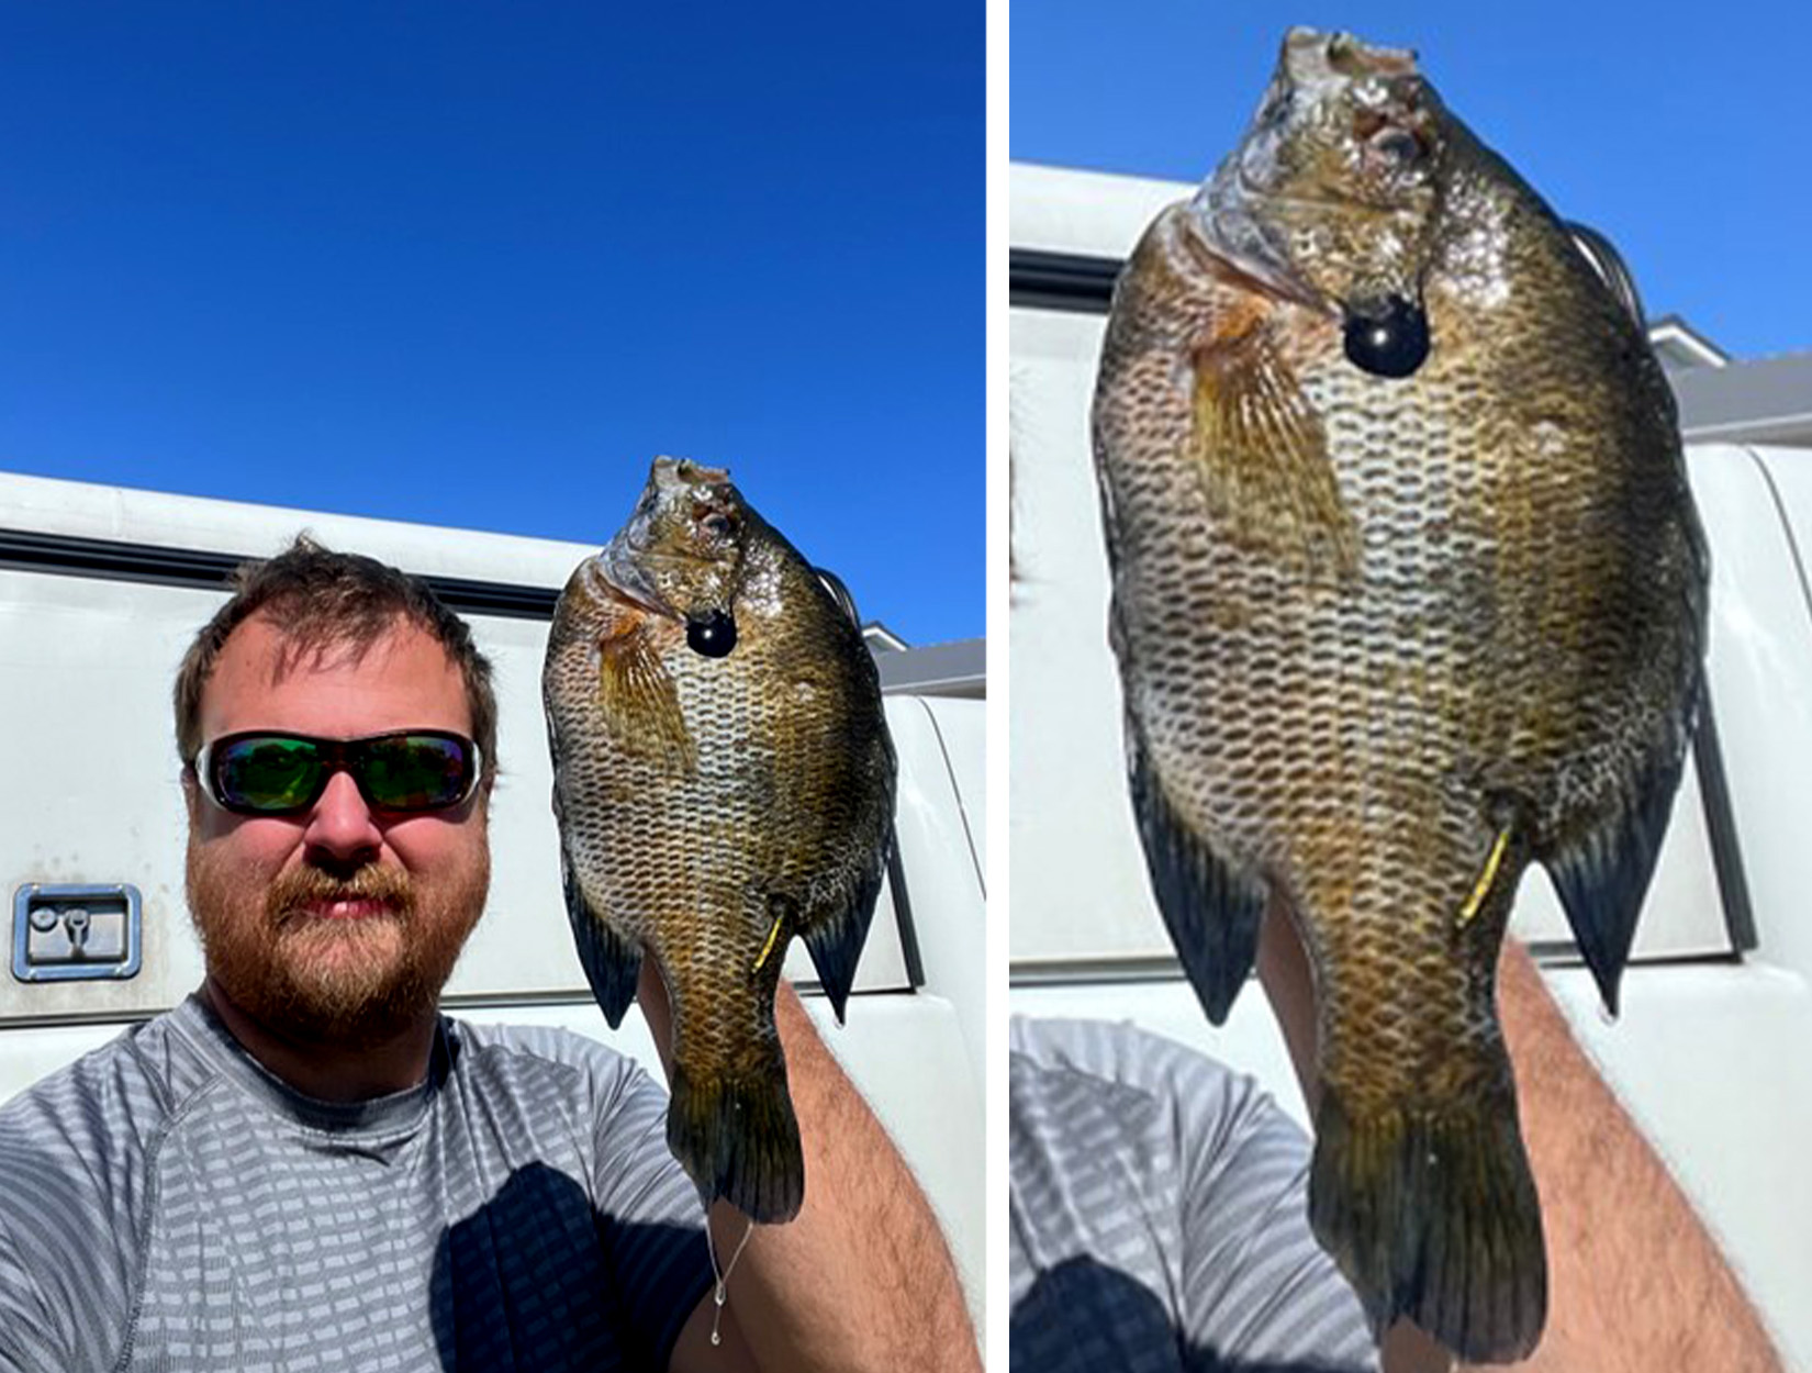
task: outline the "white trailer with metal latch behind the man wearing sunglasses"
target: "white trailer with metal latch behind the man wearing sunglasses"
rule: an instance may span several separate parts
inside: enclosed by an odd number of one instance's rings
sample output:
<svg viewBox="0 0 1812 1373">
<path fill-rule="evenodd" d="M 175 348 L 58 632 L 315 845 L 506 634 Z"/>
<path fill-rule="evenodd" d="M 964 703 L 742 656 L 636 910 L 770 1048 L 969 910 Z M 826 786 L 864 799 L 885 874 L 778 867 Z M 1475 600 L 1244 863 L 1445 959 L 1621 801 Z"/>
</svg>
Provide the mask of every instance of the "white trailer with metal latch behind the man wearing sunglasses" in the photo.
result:
<svg viewBox="0 0 1812 1373">
<path fill-rule="evenodd" d="M 625 467 L 625 514 L 638 489 L 640 473 Z M 0 975 L 0 1101 L 201 984 L 183 900 L 170 688 L 183 650 L 226 594 L 226 572 L 303 529 L 426 576 L 496 667 L 491 898 L 446 1007 L 473 1020 L 565 1025 L 658 1076 L 641 1020 L 632 1014 L 612 1034 L 585 985 L 549 810 L 547 621 L 571 571 L 596 549 L 0 475 L 0 705 L 11 721 L 0 750 L 11 964 Z M 895 661 L 884 677 L 913 676 L 911 650 L 886 658 Z M 980 699 L 949 696 L 886 699 L 901 763 L 899 844 L 844 1027 L 814 994 L 801 946 L 786 964 L 930 1194 L 978 1320 L 984 710 Z"/>
</svg>

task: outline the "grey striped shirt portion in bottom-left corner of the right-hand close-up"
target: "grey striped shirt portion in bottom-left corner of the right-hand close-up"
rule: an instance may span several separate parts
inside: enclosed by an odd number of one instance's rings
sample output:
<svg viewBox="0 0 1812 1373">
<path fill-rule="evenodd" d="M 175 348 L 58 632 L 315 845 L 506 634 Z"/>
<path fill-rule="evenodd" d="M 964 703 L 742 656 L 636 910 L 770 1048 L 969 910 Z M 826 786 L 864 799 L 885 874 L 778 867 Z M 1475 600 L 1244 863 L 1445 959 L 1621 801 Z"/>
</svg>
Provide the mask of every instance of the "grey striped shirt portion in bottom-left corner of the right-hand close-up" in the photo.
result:
<svg viewBox="0 0 1812 1373">
<path fill-rule="evenodd" d="M 1015 1369 L 1377 1369 L 1308 1230 L 1308 1141 L 1250 1078 L 1131 1025 L 1015 1020 L 1007 1094 Z"/>
</svg>

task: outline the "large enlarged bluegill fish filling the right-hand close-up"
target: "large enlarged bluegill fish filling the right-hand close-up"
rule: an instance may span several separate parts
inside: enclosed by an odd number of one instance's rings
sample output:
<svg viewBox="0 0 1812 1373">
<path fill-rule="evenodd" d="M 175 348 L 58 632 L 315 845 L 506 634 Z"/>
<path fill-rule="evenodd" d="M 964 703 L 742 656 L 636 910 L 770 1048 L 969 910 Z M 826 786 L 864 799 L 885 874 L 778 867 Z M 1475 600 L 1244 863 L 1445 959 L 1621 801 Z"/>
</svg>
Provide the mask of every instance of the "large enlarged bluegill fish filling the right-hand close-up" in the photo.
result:
<svg viewBox="0 0 1812 1373">
<path fill-rule="evenodd" d="M 1219 1022 L 1290 913 L 1317 1237 L 1379 1326 L 1522 1357 L 1547 1279 L 1504 926 L 1544 864 L 1614 1011 L 1701 694 L 1707 552 L 1642 324 L 1412 53 L 1299 29 L 1122 274 L 1093 431 L 1183 965 Z"/>
</svg>

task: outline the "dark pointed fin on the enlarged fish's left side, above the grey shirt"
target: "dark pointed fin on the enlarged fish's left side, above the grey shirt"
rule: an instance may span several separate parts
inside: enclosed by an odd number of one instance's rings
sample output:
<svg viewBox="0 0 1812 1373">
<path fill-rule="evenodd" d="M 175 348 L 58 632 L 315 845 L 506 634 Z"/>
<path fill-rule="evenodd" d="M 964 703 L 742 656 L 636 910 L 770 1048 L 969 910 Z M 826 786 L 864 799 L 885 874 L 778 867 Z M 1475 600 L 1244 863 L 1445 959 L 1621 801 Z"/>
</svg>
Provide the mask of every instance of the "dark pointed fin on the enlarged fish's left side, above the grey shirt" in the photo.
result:
<svg viewBox="0 0 1812 1373">
<path fill-rule="evenodd" d="M 1131 715 L 1127 772 L 1152 895 L 1201 1009 L 1219 1025 L 1232 1011 L 1258 955 L 1265 882 L 1258 873 L 1216 853 L 1176 813 Z"/>
</svg>

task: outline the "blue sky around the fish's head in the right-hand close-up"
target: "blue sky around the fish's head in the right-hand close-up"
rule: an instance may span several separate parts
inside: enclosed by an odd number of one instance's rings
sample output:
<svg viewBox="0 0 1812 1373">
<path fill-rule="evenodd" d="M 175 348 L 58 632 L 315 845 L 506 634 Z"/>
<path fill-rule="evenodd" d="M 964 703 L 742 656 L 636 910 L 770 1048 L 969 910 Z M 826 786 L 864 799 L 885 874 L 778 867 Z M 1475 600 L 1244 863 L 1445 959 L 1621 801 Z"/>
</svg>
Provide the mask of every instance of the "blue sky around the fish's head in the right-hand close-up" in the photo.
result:
<svg viewBox="0 0 1812 1373">
<path fill-rule="evenodd" d="M 1013 158 L 1183 181 L 1239 138 L 1288 25 L 1415 47 L 1486 143 L 1611 235 L 1651 315 L 1738 357 L 1812 348 L 1812 7 L 1020 0 L 1011 24 Z"/>
</svg>

